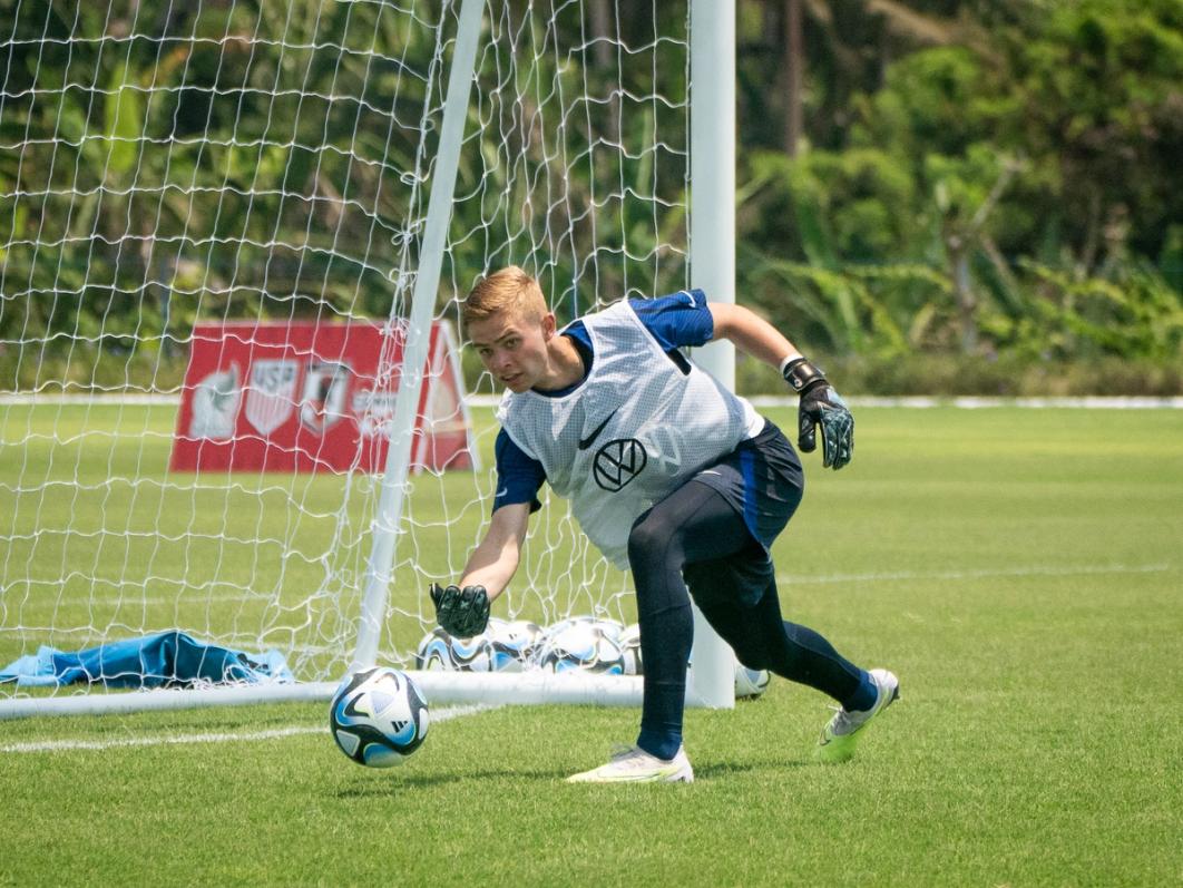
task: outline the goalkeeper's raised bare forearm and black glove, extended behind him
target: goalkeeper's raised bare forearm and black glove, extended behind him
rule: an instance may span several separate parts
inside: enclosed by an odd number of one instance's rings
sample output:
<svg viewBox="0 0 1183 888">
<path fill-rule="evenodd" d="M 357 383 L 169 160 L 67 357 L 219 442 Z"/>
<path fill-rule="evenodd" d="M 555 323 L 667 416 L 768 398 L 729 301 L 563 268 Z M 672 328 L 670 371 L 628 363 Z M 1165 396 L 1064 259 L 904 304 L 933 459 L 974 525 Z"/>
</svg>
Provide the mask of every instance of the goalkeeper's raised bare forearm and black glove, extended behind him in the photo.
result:
<svg viewBox="0 0 1183 888">
<path fill-rule="evenodd" d="M 801 395 L 797 446 L 807 453 L 817 446 L 821 426 L 822 465 L 841 469 L 854 456 L 854 417 L 826 375 L 772 324 L 743 305 L 709 303 L 715 339 L 726 339 L 741 352 L 781 371 Z"/>
</svg>

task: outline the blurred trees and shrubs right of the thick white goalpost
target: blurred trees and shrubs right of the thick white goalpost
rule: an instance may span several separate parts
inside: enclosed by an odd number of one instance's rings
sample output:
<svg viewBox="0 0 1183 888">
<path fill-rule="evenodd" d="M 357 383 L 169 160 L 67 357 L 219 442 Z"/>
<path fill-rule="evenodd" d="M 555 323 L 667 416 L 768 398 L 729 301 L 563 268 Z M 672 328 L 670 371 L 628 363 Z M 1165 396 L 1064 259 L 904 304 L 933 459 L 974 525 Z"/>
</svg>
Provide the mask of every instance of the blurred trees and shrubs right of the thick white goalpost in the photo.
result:
<svg viewBox="0 0 1183 888">
<path fill-rule="evenodd" d="M 748 300 L 867 388 L 1179 391 L 1183 5 L 742 21 Z"/>
</svg>

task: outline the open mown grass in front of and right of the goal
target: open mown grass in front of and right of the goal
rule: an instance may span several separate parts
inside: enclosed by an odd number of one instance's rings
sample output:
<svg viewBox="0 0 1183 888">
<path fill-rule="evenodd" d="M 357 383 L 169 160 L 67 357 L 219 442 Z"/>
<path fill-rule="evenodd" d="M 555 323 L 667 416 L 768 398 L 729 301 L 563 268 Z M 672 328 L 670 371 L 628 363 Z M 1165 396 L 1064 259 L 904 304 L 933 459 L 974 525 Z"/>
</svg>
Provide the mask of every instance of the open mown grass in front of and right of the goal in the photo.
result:
<svg viewBox="0 0 1183 888">
<path fill-rule="evenodd" d="M 855 761 L 775 680 L 687 714 L 690 786 L 562 781 L 629 709 L 460 714 L 384 772 L 322 706 L 0 722 L 0 884 L 1183 883 L 1183 411 L 856 416 L 775 551 L 787 616 L 900 676 Z"/>
</svg>

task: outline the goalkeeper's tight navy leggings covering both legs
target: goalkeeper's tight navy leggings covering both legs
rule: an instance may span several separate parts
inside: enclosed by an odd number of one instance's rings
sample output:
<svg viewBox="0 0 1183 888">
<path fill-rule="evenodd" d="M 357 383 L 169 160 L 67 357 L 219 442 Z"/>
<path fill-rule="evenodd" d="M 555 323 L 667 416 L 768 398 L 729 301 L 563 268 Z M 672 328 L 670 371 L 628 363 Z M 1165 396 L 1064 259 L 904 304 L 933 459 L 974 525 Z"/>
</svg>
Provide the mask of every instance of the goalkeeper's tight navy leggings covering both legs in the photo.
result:
<svg viewBox="0 0 1183 888">
<path fill-rule="evenodd" d="M 645 669 L 638 745 L 646 752 L 670 759 L 681 744 L 693 641 L 687 584 L 703 616 L 744 665 L 816 688 L 840 703 L 858 691 L 862 670 L 817 632 L 781 619 L 768 556 L 715 488 L 690 481 L 641 515 L 628 539 L 628 561 Z M 763 594 L 745 605 L 755 598 L 754 580 Z"/>
</svg>

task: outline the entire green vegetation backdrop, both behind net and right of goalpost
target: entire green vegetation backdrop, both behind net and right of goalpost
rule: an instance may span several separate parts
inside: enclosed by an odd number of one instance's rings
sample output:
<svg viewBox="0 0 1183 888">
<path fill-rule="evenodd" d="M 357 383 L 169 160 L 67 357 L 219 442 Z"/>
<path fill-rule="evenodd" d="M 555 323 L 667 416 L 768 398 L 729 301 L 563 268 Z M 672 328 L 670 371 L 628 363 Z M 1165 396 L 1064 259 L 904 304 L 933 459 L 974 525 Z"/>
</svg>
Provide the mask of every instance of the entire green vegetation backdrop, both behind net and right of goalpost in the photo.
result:
<svg viewBox="0 0 1183 888">
<path fill-rule="evenodd" d="M 847 391 L 1183 392 L 1179 0 L 738 6 L 741 302 Z M 506 260 L 563 316 L 686 281 L 685 6 L 545 7 L 486 14 L 445 311 Z M 405 298 L 439 2 L 0 17 L 0 387 L 168 390 L 199 320 Z"/>
</svg>

